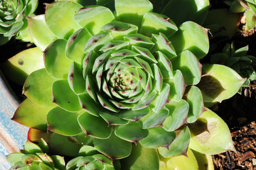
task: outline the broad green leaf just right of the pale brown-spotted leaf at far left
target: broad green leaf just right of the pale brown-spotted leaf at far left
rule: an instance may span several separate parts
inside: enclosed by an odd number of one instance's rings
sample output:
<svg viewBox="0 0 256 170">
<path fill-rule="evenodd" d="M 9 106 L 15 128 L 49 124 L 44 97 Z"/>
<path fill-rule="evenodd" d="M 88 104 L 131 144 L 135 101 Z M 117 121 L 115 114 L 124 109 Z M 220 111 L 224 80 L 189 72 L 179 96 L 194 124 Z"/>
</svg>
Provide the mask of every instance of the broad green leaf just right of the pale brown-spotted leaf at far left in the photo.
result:
<svg viewBox="0 0 256 170">
<path fill-rule="evenodd" d="M 67 79 L 72 60 L 66 57 L 66 44 L 67 40 L 58 39 L 44 51 L 45 68 L 52 77 Z"/>
</svg>

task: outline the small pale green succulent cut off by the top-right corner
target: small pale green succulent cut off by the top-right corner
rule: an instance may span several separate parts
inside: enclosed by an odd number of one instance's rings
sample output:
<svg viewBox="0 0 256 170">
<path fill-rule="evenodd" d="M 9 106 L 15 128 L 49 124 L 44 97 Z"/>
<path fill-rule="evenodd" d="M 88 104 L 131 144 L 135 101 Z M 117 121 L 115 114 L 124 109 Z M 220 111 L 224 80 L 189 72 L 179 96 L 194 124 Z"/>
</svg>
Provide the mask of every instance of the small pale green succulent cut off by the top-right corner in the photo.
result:
<svg viewBox="0 0 256 170">
<path fill-rule="evenodd" d="M 224 1 L 230 6 L 230 12 L 242 13 L 246 15 L 246 24 L 244 31 L 253 29 L 256 25 L 256 1 L 254 0 L 234 0 Z"/>
</svg>

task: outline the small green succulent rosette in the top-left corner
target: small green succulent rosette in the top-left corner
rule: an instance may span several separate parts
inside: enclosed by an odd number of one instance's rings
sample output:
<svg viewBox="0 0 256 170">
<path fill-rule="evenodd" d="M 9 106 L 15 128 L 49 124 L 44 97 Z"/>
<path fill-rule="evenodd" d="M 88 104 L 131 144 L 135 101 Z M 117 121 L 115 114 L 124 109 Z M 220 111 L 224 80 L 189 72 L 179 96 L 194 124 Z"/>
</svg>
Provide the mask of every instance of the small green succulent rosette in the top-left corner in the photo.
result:
<svg viewBox="0 0 256 170">
<path fill-rule="evenodd" d="M 1 0 L 0 1 L 0 45 L 8 42 L 12 36 L 30 41 L 28 22 L 38 5 L 38 0 Z"/>
</svg>

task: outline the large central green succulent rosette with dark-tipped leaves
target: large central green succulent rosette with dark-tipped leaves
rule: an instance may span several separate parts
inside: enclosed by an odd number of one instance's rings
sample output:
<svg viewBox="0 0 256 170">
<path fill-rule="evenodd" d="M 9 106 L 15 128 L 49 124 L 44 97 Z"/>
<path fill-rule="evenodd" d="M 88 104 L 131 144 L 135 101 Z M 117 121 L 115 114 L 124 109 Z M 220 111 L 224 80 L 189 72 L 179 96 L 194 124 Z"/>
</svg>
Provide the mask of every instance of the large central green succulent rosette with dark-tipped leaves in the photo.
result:
<svg viewBox="0 0 256 170">
<path fill-rule="evenodd" d="M 123 169 L 168 168 L 188 148 L 234 150 L 227 125 L 204 102 L 232 97 L 245 79 L 227 66 L 200 64 L 207 29 L 191 21 L 177 27 L 152 9 L 147 0 L 116 0 L 115 12 L 60 1 L 28 18 L 37 47 L 4 70 L 19 84 L 26 79 L 28 98 L 12 119 L 31 127 L 29 138 L 51 132 L 52 151 L 72 157 L 91 145 Z M 65 141 L 76 149 L 58 149 Z"/>
</svg>

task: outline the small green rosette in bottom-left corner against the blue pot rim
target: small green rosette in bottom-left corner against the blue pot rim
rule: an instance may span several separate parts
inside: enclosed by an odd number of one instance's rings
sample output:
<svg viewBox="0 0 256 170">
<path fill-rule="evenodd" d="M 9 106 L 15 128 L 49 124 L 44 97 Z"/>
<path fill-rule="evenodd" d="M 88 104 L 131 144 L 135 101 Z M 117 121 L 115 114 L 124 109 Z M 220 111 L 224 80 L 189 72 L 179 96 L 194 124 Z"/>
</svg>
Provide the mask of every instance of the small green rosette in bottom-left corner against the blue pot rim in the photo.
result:
<svg viewBox="0 0 256 170">
<path fill-rule="evenodd" d="M 59 155 L 48 155 L 49 146 L 41 139 L 38 144 L 27 141 L 20 153 L 10 153 L 6 158 L 13 164 L 10 169 L 65 169 L 65 161 Z"/>
</svg>

